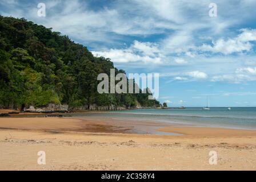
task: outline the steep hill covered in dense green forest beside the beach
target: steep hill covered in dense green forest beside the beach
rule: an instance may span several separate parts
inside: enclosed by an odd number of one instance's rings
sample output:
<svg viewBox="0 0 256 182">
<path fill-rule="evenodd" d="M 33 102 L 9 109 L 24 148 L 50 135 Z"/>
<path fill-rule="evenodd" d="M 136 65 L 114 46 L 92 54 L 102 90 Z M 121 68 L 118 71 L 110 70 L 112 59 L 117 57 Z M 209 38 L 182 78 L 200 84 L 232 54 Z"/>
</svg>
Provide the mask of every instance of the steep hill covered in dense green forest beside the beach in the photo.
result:
<svg viewBox="0 0 256 182">
<path fill-rule="evenodd" d="M 99 94 L 97 76 L 110 75 L 110 59 L 94 57 L 81 44 L 26 19 L 0 15 L 0 107 L 23 109 L 48 104 L 158 106 L 149 94 Z M 124 73 L 115 68 L 115 74 Z M 106 107 L 107 108 L 107 107 Z"/>
</svg>

